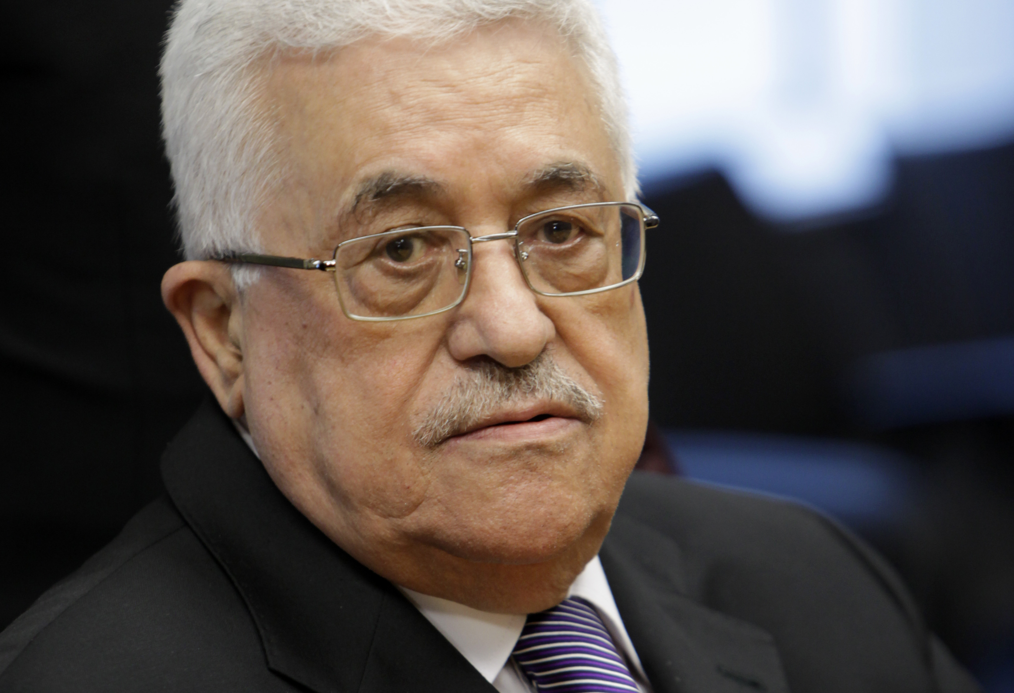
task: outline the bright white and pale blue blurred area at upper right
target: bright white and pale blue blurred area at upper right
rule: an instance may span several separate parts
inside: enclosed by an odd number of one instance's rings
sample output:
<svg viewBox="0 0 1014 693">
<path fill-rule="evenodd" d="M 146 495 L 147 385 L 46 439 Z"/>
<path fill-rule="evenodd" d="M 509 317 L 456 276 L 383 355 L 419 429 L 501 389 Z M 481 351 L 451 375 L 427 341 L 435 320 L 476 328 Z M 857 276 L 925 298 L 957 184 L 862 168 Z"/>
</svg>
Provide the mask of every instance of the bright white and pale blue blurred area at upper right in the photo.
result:
<svg viewBox="0 0 1014 693">
<path fill-rule="evenodd" d="M 792 220 L 881 202 L 896 155 L 1014 136 L 1009 0 L 599 0 L 646 190 L 716 167 Z"/>
</svg>

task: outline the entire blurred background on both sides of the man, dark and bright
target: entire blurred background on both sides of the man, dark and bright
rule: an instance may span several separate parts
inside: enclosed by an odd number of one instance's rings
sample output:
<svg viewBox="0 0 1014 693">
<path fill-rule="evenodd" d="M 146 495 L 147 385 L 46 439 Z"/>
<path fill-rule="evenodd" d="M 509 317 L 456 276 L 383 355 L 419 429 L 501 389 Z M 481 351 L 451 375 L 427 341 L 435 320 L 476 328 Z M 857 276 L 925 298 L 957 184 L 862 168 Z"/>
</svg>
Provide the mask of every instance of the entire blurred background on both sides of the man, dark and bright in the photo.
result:
<svg viewBox="0 0 1014 693">
<path fill-rule="evenodd" d="M 839 518 L 1014 691 L 1014 2 L 598 2 L 663 220 L 643 460 Z M 158 293 L 169 4 L 0 10 L 0 627 L 205 394 Z"/>
</svg>

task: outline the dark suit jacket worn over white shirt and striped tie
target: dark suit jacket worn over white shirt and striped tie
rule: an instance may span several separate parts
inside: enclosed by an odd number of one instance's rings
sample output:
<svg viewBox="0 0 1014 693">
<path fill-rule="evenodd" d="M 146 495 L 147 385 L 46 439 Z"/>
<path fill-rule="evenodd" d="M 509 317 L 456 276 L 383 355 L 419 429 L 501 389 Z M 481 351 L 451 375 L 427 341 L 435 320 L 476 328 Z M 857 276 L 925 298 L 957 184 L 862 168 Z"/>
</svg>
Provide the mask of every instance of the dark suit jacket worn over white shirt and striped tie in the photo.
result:
<svg viewBox="0 0 1014 693">
<path fill-rule="evenodd" d="M 214 404 L 162 474 L 168 497 L 0 636 L 0 691 L 494 690 Z M 798 506 L 635 475 L 600 556 L 657 693 L 974 690 L 880 559 Z"/>
</svg>

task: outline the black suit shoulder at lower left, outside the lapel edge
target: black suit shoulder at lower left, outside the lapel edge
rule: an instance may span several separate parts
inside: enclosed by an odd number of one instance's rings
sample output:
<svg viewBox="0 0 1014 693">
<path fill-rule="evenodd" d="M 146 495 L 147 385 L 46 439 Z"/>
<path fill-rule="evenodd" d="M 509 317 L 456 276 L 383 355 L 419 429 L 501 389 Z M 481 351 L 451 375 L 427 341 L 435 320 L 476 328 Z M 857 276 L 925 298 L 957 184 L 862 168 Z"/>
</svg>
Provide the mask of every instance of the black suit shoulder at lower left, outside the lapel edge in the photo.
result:
<svg viewBox="0 0 1014 693">
<path fill-rule="evenodd" d="M 250 616 L 165 499 L 0 634 L 0 691 L 215 690 L 243 667 L 264 671 Z"/>
</svg>

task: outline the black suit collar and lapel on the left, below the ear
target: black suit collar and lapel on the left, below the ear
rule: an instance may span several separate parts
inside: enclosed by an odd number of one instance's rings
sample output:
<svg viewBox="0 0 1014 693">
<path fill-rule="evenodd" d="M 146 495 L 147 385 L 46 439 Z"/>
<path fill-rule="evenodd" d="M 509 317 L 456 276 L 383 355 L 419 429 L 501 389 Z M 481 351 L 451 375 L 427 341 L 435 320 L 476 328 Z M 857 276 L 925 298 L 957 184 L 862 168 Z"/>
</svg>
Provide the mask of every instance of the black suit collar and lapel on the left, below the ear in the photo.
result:
<svg viewBox="0 0 1014 693">
<path fill-rule="evenodd" d="M 319 693 L 491 693 L 390 583 L 282 495 L 216 404 L 173 441 L 162 477 L 242 596 L 268 667 Z"/>
</svg>

